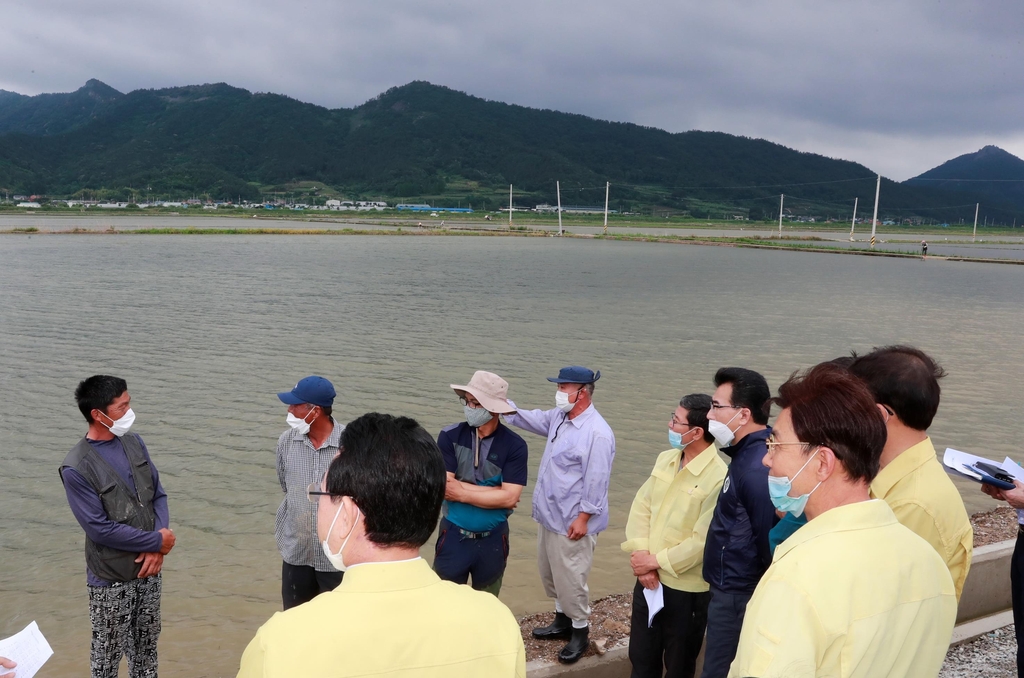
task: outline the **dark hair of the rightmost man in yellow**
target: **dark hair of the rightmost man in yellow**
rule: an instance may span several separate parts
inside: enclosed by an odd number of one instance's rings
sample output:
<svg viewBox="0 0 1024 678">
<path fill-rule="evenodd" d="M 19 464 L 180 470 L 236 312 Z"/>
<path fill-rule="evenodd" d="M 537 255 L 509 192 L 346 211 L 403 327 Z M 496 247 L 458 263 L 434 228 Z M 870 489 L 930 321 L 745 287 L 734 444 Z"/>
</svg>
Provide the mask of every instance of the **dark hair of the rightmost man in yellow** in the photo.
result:
<svg viewBox="0 0 1024 678">
<path fill-rule="evenodd" d="M 928 353 L 913 346 L 883 346 L 857 357 L 850 372 L 904 424 L 918 431 L 931 427 L 939 411 L 939 379 L 946 373 Z"/>
</svg>

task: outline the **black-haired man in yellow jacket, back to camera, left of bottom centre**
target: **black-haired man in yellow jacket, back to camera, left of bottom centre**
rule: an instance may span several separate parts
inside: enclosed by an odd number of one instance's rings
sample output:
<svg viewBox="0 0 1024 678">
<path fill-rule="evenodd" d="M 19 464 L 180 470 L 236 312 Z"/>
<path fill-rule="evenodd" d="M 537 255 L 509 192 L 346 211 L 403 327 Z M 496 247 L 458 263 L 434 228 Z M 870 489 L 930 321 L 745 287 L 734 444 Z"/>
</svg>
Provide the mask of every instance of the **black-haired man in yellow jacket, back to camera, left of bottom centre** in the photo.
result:
<svg viewBox="0 0 1024 678">
<path fill-rule="evenodd" d="M 524 678 L 519 625 L 493 595 L 444 582 L 420 557 L 446 483 L 430 434 L 407 417 L 367 414 L 309 490 L 338 588 L 275 613 L 242 655 L 239 678 Z M 347 569 L 346 569 L 347 568 Z"/>
</svg>

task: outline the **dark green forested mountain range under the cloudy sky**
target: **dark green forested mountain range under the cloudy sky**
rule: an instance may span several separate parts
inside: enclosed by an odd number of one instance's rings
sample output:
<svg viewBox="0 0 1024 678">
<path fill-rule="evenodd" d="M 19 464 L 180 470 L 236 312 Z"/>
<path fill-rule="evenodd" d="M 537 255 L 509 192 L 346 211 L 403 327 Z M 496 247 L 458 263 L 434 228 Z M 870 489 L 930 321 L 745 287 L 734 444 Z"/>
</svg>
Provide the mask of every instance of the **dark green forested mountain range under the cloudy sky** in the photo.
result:
<svg viewBox="0 0 1024 678">
<path fill-rule="evenodd" d="M 952 221 L 985 204 L 1024 216 L 1024 161 L 986 146 L 899 183 L 883 178 L 880 216 Z M 997 179 L 997 180 L 993 180 Z M 630 123 L 485 100 L 426 82 L 352 109 L 326 109 L 226 84 L 122 93 L 98 80 L 65 94 L 0 90 L 0 190 L 54 196 L 145 192 L 258 199 L 269 192 L 454 201 L 518 199 L 663 207 L 695 215 L 870 210 L 863 165 L 723 132 Z M 791 194 L 792 192 L 792 194 Z M 957 207 L 952 207 L 957 206 Z M 848 218 L 848 217 L 847 217 Z"/>
</svg>

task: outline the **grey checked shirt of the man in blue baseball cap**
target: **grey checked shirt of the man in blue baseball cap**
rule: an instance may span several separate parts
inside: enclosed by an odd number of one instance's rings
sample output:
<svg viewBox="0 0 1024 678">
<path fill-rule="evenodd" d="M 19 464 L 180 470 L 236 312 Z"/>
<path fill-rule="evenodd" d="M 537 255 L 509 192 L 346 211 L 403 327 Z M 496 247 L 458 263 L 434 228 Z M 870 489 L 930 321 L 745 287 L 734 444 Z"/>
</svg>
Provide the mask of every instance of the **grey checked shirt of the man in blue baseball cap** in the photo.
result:
<svg viewBox="0 0 1024 678">
<path fill-rule="evenodd" d="M 343 424 L 334 423 L 334 430 L 319 450 L 313 450 L 307 434 L 299 435 L 288 429 L 278 440 L 278 479 L 285 499 L 278 509 L 274 536 L 278 550 L 285 562 L 308 565 L 317 571 L 337 571 L 324 555 L 316 537 L 316 505 L 306 498 L 310 482 L 319 482 L 331 460 L 338 454 Z"/>
</svg>

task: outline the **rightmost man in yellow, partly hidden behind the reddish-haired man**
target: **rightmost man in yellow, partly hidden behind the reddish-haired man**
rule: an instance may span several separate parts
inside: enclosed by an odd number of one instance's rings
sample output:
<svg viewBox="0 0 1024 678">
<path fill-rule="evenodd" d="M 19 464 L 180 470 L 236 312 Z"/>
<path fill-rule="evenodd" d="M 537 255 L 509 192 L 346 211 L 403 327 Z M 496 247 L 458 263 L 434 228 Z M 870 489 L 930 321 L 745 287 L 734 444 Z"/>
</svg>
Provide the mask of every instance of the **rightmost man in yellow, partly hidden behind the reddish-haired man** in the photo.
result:
<svg viewBox="0 0 1024 678">
<path fill-rule="evenodd" d="M 974 528 L 928 436 L 945 372 L 912 346 L 876 348 L 857 357 L 850 371 L 867 384 L 886 420 L 882 470 L 871 480 L 871 497 L 885 500 L 901 523 L 939 553 L 958 602 L 971 568 Z"/>
</svg>

